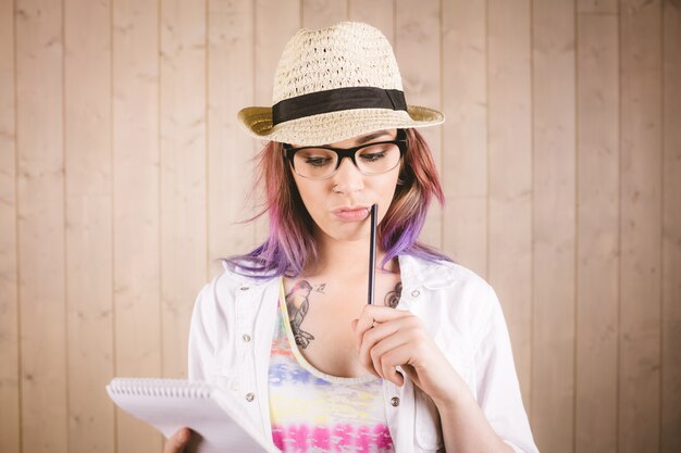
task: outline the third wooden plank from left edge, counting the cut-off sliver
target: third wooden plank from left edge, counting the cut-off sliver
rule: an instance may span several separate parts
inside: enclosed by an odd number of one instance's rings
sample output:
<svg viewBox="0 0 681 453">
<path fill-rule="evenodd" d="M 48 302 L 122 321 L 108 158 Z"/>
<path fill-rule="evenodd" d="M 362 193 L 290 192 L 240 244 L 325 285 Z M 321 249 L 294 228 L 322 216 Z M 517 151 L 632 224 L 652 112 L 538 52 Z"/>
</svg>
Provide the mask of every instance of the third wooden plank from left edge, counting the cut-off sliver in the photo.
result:
<svg viewBox="0 0 681 453">
<path fill-rule="evenodd" d="M 64 2 L 70 452 L 115 450 L 102 391 L 113 375 L 110 11 Z"/>
</svg>

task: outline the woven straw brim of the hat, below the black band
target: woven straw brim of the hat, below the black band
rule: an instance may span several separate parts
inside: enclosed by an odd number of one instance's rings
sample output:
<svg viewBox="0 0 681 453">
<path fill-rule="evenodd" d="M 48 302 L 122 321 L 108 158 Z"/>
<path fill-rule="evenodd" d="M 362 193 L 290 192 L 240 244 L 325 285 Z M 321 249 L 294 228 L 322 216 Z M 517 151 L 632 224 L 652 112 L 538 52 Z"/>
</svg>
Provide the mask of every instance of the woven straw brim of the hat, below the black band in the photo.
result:
<svg viewBox="0 0 681 453">
<path fill-rule="evenodd" d="M 445 116 L 433 109 L 409 105 L 408 111 L 354 109 L 306 116 L 272 127 L 272 109 L 250 106 L 238 113 L 244 130 L 255 138 L 295 143 L 326 144 L 381 129 L 406 129 L 441 124 Z"/>
</svg>

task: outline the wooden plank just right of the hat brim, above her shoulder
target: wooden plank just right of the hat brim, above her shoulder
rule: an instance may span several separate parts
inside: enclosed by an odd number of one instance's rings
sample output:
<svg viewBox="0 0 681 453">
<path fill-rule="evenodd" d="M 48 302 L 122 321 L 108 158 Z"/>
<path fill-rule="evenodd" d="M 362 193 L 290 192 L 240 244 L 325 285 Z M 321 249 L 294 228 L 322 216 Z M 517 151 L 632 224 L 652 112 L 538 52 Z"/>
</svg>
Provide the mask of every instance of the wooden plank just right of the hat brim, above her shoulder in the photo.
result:
<svg viewBox="0 0 681 453">
<path fill-rule="evenodd" d="M 443 248 L 487 274 L 486 2 L 443 3 Z"/>
</svg>

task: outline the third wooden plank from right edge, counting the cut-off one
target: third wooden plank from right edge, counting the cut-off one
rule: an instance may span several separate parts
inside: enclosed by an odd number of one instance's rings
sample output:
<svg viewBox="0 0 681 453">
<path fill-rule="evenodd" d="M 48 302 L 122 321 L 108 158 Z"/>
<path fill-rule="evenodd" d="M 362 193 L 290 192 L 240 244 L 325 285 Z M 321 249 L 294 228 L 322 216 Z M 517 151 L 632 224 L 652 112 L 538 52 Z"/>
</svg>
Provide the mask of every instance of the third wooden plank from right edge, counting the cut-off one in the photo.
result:
<svg viewBox="0 0 681 453">
<path fill-rule="evenodd" d="M 617 451 L 619 47 L 616 14 L 578 15 L 574 451 Z"/>
</svg>

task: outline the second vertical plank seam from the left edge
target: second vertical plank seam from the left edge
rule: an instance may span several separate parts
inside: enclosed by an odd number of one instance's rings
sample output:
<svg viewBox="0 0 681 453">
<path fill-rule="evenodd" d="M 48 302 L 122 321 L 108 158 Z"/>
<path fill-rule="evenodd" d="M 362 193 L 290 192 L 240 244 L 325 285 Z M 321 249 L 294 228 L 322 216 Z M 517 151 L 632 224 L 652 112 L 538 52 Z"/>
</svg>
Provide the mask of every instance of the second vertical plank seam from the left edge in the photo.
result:
<svg viewBox="0 0 681 453">
<path fill-rule="evenodd" d="M 67 140 L 66 140 L 66 0 L 61 0 L 60 4 L 61 4 L 61 41 L 62 41 L 62 47 L 61 47 L 61 85 L 62 85 L 62 96 L 61 96 L 61 113 L 62 113 L 62 124 L 61 124 L 61 146 L 62 146 L 62 162 L 61 162 L 61 169 L 62 169 L 62 224 L 63 224 L 63 231 L 62 231 L 62 237 L 63 237 L 63 251 L 64 254 L 62 256 L 62 266 L 64 269 L 64 274 L 63 274 L 63 284 L 64 284 L 64 394 L 66 398 L 66 407 L 65 407 L 65 412 L 66 412 L 66 420 L 65 420 L 65 429 L 66 429 L 66 451 L 70 451 L 71 449 L 69 449 L 69 444 L 71 441 L 71 432 L 69 429 L 69 425 L 70 425 L 70 414 L 71 414 L 71 392 L 70 392 L 70 373 L 69 373 L 69 358 L 70 358 L 70 354 L 69 354 L 69 270 L 67 270 L 67 264 L 69 264 L 69 222 L 67 222 L 67 217 L 69 217 L 69 202 L 67 202 L 67 185 L 66 185 L 66 177 L 67 177 L 67 167 L 66 167 L 66 144 L 67 144 Z"/>
</svg>

